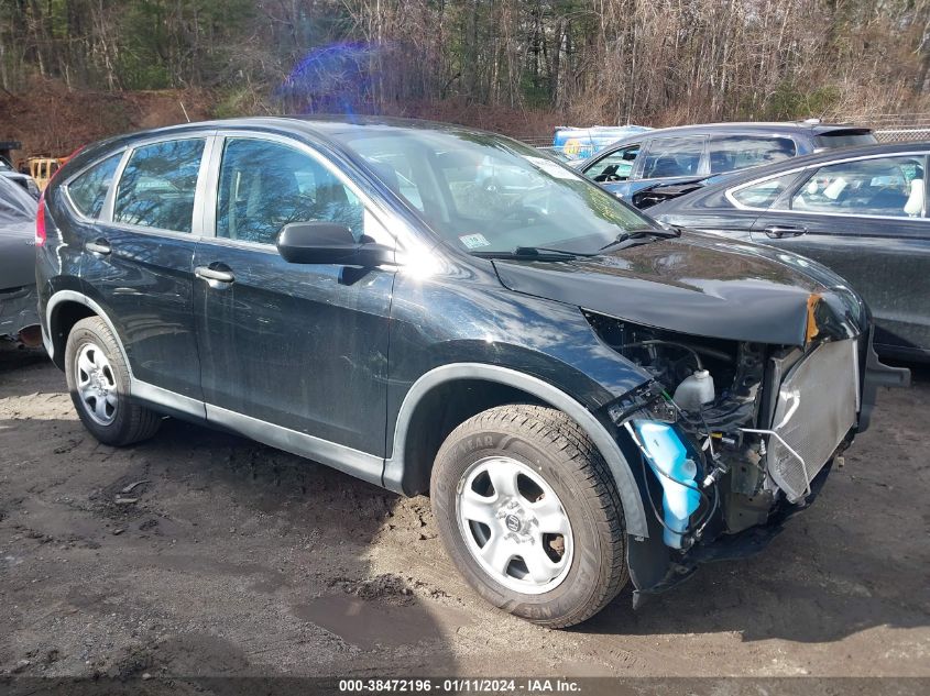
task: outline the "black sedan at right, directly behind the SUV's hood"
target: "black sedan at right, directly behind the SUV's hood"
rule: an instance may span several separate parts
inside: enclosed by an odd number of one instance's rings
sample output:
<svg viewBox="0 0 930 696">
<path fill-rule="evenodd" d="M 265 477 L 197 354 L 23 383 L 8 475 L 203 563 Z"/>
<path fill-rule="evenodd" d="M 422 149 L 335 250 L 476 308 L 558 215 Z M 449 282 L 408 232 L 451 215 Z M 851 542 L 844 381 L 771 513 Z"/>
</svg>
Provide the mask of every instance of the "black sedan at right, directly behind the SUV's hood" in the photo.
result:
<svg viewBox="0 0 930 696">
<path fill-rule="evenodd" d="M 655 206 L 659 221 L 818 261 L 872 308 L 879 353 L 930 358 L 930 143 L 833 151 Z"/>
</svg>

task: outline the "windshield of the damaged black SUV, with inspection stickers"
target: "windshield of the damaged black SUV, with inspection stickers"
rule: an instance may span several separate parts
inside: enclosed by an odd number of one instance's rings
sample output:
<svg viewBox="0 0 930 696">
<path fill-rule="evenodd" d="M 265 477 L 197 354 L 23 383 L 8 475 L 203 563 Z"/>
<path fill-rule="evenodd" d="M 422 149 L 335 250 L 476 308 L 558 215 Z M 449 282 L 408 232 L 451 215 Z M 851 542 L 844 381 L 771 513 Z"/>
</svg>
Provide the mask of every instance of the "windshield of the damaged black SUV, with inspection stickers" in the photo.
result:
<svg viewBox="0 0 930 696">
<path fill-rule="evenodd" d="M 655 223 L 533 147 L 485 133 L 365 126 L 339 140 L 460 248 L 594 253 Z"/>
</svg>

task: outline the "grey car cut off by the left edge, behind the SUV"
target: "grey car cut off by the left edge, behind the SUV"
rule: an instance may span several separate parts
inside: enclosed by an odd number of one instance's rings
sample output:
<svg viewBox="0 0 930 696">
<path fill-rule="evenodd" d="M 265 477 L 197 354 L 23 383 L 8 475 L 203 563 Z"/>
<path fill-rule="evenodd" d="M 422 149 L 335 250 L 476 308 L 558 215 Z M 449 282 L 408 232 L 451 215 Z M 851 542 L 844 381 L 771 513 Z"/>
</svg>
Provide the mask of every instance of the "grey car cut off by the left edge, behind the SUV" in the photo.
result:
<svg viewBox="0 0 930 696">
<path fill-rule="evenodd" d="M 37 345 L 35 199 L 0 176 L 0 336 Z"/>
</svg>

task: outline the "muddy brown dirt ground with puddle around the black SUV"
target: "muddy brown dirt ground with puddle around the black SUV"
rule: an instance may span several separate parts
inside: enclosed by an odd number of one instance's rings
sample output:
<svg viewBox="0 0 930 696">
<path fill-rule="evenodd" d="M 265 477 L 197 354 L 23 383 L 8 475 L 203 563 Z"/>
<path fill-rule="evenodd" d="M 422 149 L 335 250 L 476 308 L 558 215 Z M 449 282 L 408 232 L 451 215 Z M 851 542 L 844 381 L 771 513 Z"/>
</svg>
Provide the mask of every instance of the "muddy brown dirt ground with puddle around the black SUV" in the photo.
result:
<svg viewBox="0 0 930 696">
<path fill-rule="evenodd" d="M 100 445 L 43 355 L 0 346 L 0 671 L 930 676 L 915 382 L 766 553 L 550 631 L 478 599 L 426 498 L 173 420 Z"/>
</svg>

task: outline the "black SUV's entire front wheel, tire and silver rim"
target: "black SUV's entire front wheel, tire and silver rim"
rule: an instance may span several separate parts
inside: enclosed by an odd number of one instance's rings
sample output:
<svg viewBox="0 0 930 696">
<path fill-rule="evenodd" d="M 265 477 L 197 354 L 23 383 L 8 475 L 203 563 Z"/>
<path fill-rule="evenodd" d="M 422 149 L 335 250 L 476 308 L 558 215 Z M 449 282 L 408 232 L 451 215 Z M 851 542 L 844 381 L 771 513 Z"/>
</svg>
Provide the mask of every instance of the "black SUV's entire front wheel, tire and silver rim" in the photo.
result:
<svg viewBox="0 0 930 696">
<path fill-rule="evenodd" d="M 566 628 L 626 584 L 613 477 L 561 411 L 501 406 L 470 418 L 439 449 L 430 496 L 446 551 L 495 607 Z"/>
</svg>

